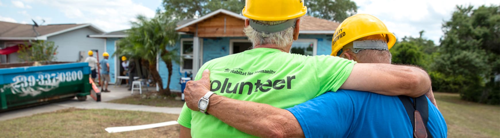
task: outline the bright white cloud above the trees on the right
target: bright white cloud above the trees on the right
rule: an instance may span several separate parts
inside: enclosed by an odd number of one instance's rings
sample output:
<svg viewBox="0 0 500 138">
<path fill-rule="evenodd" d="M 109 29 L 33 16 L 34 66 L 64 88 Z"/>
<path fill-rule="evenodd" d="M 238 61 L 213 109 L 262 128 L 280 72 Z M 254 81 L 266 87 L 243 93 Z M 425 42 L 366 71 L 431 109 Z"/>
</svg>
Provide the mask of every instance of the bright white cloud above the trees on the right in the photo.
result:
<svg viewBox="0 0 500 138">
<path fill-rule="evenodd" d="M 443 21 L 451 18 L 456 5 L 497 3 L 496 0 L 353 0 L 357 13 L 371 14 L 382 20 L 400 40 L 404 36 L 423 37 L 439 43 Z"/>
</svg>

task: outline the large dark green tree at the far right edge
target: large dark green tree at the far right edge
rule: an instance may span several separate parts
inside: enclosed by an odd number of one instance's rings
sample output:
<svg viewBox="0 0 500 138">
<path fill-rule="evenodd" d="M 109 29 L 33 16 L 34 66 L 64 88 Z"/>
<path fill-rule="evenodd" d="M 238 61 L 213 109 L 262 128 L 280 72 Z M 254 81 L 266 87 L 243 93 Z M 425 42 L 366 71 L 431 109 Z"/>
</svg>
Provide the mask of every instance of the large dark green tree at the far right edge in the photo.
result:
<svg viewBox="0 0 500 138">
<path fill-rule="evenodd" d="M 442 91 L 464 100 L 500 104 L 500 6 L 456 6 L 442 25 L 444 36 L 432 70 L 443 77 Z"/>
</svg>

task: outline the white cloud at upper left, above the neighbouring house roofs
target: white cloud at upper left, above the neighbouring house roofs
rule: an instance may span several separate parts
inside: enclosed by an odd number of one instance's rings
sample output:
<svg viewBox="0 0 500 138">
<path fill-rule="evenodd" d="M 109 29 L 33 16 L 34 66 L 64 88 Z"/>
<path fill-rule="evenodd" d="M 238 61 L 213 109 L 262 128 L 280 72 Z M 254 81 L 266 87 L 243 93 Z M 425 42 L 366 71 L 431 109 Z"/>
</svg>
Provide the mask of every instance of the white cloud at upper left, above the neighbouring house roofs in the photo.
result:
<svg viewBox="0 0 500 138">
<path fill-rule="evenodd" d="M 44 4 L 58 9 L 75 23 L 92 23 L 105 31 L 130 28 L 137 14 L 153 17 L 155 11 L 131 0 L 22 0 L 31 5 Z M 46 20 L 46 19 L 45 19 Z M 72 23 L 72 22 L 68 22 Z"/>
</svg>

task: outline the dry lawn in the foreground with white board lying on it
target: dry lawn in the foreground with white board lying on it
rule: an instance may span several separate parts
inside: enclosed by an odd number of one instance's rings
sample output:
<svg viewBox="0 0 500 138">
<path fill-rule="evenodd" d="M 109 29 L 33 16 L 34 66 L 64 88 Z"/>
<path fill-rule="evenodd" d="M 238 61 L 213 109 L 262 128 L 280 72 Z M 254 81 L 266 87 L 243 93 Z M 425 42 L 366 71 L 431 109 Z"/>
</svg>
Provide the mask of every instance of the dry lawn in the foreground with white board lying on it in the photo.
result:
<svg viewBox="0 0 500 138">
<path fill-rule="evenodd" d="M 135 126 L 177 120 L 178 115 L 65 109 L 0 122 L 0 138 L 177 138 L 179 125 L 107 133 L 108 127 Z"/>
</svg>

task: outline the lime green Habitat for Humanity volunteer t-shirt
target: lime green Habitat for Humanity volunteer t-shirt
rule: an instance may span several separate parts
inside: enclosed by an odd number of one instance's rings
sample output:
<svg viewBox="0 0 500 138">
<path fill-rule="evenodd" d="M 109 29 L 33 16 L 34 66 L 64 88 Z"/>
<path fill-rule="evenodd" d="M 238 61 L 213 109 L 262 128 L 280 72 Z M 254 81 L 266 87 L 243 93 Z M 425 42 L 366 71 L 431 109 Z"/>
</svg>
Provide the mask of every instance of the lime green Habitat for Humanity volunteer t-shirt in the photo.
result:
<svg viewBox="0 0 500 138">
<path fill-rule="evenodd" d="M 303 56 L 255 48 L 206 62 L 194 80 L 199 80 L 203 70 L 209 69 L 211 91 L 215 94 L 285 109 L 324 92 L 336 91 L 355 63 L 334 56 Z M 254 137 L 211 115 L 192 111 L 185 104 L 177 122 L 191 129 L 192 138 Z"/>
</svg>

